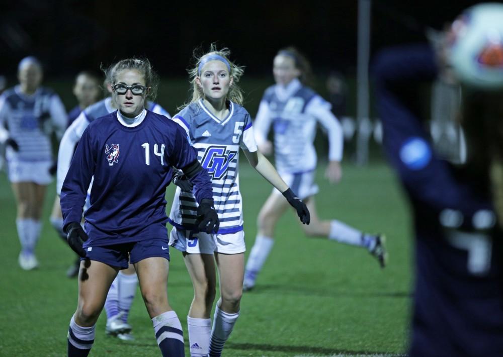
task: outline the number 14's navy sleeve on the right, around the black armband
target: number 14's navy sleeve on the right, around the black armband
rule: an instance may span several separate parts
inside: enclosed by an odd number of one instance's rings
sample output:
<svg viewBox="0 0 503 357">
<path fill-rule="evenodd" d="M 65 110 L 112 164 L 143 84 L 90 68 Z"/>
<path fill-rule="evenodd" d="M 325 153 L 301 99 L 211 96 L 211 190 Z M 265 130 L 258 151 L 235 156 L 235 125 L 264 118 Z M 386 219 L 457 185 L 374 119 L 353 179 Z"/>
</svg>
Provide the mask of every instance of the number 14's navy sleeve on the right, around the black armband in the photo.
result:
<svg viewBox="0 0 503 357">
<path fill-rule="evenodd" d="M 170 160 L 172 166 L 181 169 L 197 160 L 197 150 L 190 144 L 187 132 L 178 124 L 175 127 L 174 146 Z M 197 202 L 201 203 L 203 198 L 213 199 L 213 188 L 207 169 L 203 168 L 199 171 L 192 177 L 191 182 L 194 184 L 194 195 Z"/>
</svg>

